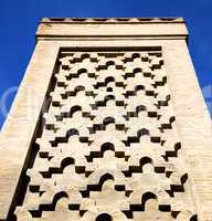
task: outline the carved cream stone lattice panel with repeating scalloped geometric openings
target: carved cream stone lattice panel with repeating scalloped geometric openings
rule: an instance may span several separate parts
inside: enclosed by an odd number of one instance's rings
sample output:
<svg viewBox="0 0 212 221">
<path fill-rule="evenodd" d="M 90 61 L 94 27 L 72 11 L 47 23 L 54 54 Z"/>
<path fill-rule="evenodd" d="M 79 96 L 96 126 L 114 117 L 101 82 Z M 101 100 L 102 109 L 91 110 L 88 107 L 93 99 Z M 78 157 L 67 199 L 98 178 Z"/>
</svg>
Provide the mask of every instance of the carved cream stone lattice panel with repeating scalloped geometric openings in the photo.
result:
<svg viewBox="0 0 212 221">
<path fill-rule="evenodd" d="M 17 220 L 198 220 L 161 51 L 61 52 Z"/>
</svg>

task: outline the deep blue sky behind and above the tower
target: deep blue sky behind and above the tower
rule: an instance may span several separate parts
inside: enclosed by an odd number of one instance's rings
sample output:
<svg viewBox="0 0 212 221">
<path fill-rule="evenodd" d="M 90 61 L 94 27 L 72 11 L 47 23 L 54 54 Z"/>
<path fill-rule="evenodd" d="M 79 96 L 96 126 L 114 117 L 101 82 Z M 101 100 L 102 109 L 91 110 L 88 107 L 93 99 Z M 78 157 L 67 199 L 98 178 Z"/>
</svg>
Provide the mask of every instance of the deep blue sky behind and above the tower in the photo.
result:
<svg viewBox="0 0 212 221">
<path fill-rule="evenodd" d="M 183 17 L 190 32 L 189 49 L 201 88 L 212 104 L 211 0 L 1 0 L 0 101 L 8 92 L 10 108 L 34 49 L 38 22 L 43 17 Z M 4 120 L 0 113 L 0 126 Z"/>
</svg>

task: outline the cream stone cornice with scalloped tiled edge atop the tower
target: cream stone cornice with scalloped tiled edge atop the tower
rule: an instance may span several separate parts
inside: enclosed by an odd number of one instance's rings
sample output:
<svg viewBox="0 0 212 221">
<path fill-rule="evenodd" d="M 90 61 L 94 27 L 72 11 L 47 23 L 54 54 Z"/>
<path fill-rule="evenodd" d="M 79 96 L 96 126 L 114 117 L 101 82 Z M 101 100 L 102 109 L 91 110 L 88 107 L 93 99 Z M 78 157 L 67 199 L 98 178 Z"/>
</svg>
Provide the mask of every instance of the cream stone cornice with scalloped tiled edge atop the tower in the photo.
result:
<svg viewBox="0 0 212 221">
<path fill-rule="evenodd" d="M 36 40 L 188 39 L 182 18 L 44 18 Z"/>
</svg>

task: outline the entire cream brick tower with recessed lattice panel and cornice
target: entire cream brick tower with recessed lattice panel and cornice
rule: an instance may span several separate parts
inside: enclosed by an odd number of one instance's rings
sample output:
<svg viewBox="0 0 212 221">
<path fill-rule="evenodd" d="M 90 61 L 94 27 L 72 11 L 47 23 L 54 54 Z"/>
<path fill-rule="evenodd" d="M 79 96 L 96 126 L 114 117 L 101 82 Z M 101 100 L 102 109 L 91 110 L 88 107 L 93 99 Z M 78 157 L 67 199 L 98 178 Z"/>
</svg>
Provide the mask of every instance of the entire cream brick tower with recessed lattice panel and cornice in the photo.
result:
<svg viewBox="0 0 212 221">
<path fill-rule="evenodd" d="M 211 221 L 211 120 L 183 19 L 43 19 L 0 139 L 0 220 Z"/>
</svg>

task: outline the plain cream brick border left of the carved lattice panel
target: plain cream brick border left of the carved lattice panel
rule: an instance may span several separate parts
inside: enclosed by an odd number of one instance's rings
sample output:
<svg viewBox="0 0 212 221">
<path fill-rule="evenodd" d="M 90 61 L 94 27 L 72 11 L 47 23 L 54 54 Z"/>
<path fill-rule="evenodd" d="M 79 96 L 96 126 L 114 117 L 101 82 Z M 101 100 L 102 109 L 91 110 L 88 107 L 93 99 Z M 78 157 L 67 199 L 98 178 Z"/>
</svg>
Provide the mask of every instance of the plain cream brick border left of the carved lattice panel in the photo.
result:
<svg viewBox="0 0 212 221">
<path fill-rule="evenodd" d="M 38 42 L 0 137 L 0 220 L 6 220 L 47 92 L 59 46 Z"/>
</svg>

